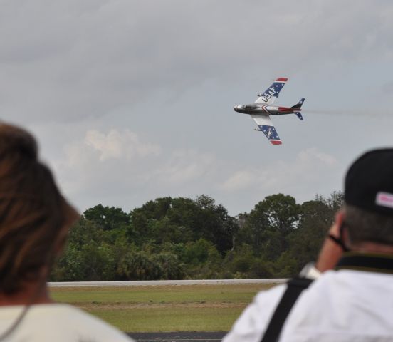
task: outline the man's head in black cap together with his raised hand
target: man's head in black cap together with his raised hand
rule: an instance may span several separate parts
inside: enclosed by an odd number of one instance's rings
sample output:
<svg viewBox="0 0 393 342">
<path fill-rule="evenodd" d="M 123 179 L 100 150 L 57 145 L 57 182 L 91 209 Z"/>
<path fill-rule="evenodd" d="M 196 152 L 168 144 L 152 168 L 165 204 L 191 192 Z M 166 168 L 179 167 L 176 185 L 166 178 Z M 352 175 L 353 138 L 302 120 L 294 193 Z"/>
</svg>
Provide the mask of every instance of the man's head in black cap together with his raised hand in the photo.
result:
<svg viewBox="0 0 393 342">
<path fill-rule="evenodd" d="M 366 152 L 350 165 L 344 206 L 328 237 L 318 257 L 319 271 L 333 269 L 342 252 L 393 254 L 392 148 Z"/>
</svg>

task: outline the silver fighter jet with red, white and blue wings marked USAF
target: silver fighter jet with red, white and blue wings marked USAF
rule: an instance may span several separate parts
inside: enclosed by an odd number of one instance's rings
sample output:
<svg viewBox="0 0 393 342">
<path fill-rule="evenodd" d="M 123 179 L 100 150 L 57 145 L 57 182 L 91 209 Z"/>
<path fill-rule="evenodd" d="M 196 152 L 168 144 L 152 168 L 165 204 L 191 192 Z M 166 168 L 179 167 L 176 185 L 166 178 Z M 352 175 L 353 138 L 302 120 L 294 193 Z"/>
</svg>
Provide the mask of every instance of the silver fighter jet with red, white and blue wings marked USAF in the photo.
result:
<svg viewBox="0 0 393 342">
<path fill-rule="evenodd" d="M 251 115 L 251 118 L 253 118 L 256 125 L 258 125 L 255 130 L 261 130 L 265 133 L 266 138 L 268 138 L 273 145 L 281 145 L 282 142 L 278 137 L 276 128 L 273 126 L 270 115 L 295 114 L 300 120 L 303 120 L 300 110 L 303 105 L 304 98 L 290 108 L 271 105 L 278 98 L 278 94 L 286 81 L 288 81 L 288 78 L 277 78 L 264 93 L 258 95 L 258 98 L 254 103 L 234 106 L 234 110 L 236 112 Z"/>
</svg>

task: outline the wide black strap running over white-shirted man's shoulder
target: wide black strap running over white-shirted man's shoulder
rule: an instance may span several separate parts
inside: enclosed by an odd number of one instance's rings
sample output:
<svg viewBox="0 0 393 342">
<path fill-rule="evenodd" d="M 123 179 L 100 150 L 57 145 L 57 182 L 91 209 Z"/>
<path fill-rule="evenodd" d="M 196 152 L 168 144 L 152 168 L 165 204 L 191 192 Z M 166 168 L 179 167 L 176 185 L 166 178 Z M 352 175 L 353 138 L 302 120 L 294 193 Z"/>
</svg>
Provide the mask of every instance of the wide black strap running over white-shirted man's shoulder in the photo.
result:
<svg viewBox="0 0 393 342">
<path fill-rule="evenodd" d="M 290 309 L 292 309 L 293 304 L 295 304 L 296 299 L 298 299 L 302 291 L 307 289 L 312 282 L 312 280 L 306 278 L 294 278 L 288 281 L 288 287 L 271 317 L 271 321 L 268 328 L 266 328 L 261 342 L 278 341 L 278 336 L 280 336 L 281 329 L 290 313 Z"/>
</svg>

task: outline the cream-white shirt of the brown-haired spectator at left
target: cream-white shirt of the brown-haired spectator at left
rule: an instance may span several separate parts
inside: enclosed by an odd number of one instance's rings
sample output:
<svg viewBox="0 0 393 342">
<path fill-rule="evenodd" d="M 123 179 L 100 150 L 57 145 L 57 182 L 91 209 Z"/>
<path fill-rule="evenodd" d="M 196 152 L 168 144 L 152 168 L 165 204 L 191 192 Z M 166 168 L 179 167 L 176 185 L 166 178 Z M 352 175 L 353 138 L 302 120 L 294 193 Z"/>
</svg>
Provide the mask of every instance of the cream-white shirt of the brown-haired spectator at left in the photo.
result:
<svg viewBox="0 0 393 342">
<path fill-rule="evenodd" d="M 0 335 L 18 319 L 24 306 L 0 306 Z M 130 342 L 122 333 L 85 311 L 68 304 L 37 304 L 6 342 Z"/>
</svg>

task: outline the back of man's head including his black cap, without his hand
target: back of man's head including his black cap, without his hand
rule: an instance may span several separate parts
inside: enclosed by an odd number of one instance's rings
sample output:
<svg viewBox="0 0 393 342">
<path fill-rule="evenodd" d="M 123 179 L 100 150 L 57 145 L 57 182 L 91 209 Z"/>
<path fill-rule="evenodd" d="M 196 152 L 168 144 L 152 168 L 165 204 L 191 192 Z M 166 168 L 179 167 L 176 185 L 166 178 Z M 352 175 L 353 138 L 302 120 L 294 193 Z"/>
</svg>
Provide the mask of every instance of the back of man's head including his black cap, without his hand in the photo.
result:
<svg viewBox="0 0 393 342">
<path fill-rule="evenodd" d="M 393 149 L 371 150 L 352 163 L 344 199 L 350 247 L 393 246 Z"/>
</svg>

